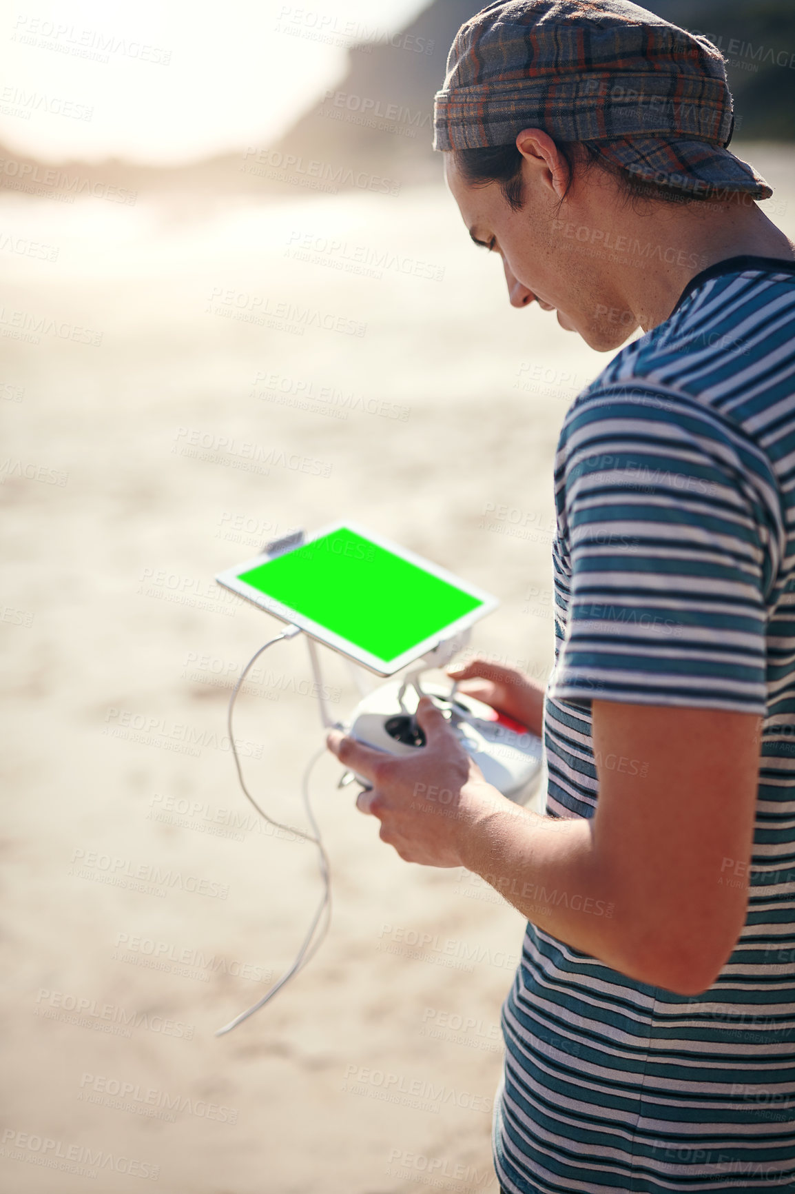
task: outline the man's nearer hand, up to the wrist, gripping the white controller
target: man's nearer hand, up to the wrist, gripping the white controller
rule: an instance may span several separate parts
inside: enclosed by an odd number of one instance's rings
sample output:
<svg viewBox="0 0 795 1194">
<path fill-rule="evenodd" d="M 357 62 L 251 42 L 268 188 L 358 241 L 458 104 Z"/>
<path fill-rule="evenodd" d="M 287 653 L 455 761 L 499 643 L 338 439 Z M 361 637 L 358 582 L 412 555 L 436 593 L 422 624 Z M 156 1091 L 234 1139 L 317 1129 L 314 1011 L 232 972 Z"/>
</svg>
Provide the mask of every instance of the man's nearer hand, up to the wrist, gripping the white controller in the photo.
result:
<svg viewBox="0 0 795 1194">
<path fill-rule="evenodd" d="M 378 818 L 381 841 L 393 845 L 405 862 L 463 867 L 477 826 L 494 812 L 514 806 L 486 783 L 430 697 L 420 700 L 417 720 L 426 744 L 414 756 L 396 758 L 338 730 L 328 734 L 328 749 L 370 781 L 372 787 L 359 793 L 357 807 Z"/>
</svg>

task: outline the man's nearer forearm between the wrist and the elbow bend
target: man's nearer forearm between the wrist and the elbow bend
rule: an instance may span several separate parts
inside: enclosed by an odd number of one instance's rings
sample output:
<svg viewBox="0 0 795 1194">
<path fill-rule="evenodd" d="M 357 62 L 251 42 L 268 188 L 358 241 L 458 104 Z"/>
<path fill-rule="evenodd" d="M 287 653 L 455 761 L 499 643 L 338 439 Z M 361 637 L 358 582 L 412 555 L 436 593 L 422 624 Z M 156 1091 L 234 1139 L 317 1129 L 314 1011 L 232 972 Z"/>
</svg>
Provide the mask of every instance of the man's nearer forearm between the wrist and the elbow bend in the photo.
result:
<svg viewBox="0 0 795 1194">
<path fill-rule="evenodd" d="M 462 861 L 540 929 L 645 980 L 633 958 L 630 910 L 599 863 L 588 820 L 505 807 L 495 793 L 494 810 L 467 833 Z"/>
</svg>

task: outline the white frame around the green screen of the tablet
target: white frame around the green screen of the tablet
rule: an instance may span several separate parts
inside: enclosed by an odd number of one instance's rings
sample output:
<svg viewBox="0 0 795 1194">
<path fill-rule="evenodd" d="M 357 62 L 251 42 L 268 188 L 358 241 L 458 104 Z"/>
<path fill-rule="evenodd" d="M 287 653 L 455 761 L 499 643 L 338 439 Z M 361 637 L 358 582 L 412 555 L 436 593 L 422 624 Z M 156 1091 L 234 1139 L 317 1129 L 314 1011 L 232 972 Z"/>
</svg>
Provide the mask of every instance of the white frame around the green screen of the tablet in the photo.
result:
<svg viewBox="0 0 795 1194">
<path fill-rule="evenodd" d="M 267 564 L 269 560 L 278 559 L 277 555 L 269 554 L 267 552 L 260 552 L 259 555 L 254 556 L 252 560 L 246 560 L 245 564 L 239 564 L 234 568 L 227 568 L 224 572 L 220 572 L 215 578 L 220 585 L 224 589 L 229 589 L 233 593 L 238 593 L 239 597 L 245 597 L 246 601 L 252 602 L 260 609 L 264 609 L 267 614 L 272 614 L 273 617 L 278 617 L 283 622 L 289 622 L 291 626 L 297 626 L 300 629 L 308 634 L 310 639 L 315 639 L 318 642 L 325 644 L 333 651 L 338 651 L 340 654 L 351 659 L 356 664 L 360 664 L 369 671 L 375 672 L 376 676 L 394 676 L 399 672 L 401 667 L 406 667 L 407 664 L 414 663 L 415 659 L 420 659 L 433 647 L 438 646 L 439 642 L 444 642 L 446 639 L 451 639 L 454 635 L 458 634 L 461 630 L 467 629 L 477 622 L 486 614 L 491 614 L 492 610 L 497 609 L 499 601 L 492 593 L 486 592 L 485 589 L 480 589 L 477 585 L 470 584 L 468 580 L 462 580 L 461 577 L 454 576 L 452 572 L 448 572 L 446 568 L 440 567 L 438 564 L 433 564 L 431 560 L 426 560 L 421 555 L 417 555 L 415 552 L 411 552 L 406 547 L 401 547 L 399 543 L 393 543 L 392 540 L 384 538 L 382 535 L 376 535 L 371 530 L 352 522 L 350 518 L 341 518 L 338 522 L 329 523 L 327 527 L 322 527 L 320 530 L 312 531 L 304 536 L 302 543 L 296 543 L 295 548 L 289 550 L 297 550 L 298 547 L 306 547 L 307 543 L 312 543 L 316 538 L 322 538 L 325 535 L 331 535 L 335 530 L 341 530 L 347 528 L 357 535 L 362 535 L 364 538 L 370 540 L 370 542 L 376 543 L 378 547 L 383 547 L 387 552 L 393 552 L 395 555 L 406 560 L 408 564 L 415 564 L 418 567 L 424 568 L 430 572 L 431 576 L 438 577 L 439 580 L 446 580 L 448 584 L 455 585 L 462 592 L 468 593 L 470 597 L 475 597 L 483 604 L 477 609 L 472 610 L 469 614 L 464 614 L 456 622 L 450 622 L 442 630 L 425 639 L 423 642 L 417 644 L 409 651 L 405 651 L 402 654 L 396 656 L 395 659 L 387 660 L 380 659 L 377 656 L 371 654 L 369 651 L 364 651 L 357 647 L 355 642 L 349 639 L 343 639 L 340 635 L 327 630 L 325 627 L 319 626 L 318 622 L 313 622 L 312 618 L 304 617 L 297 610 L 291 609 L 289 605 L 284 605 L 282 602 L 275 601 L 269 597 L 267 593 L 263 593 L 259 589 L 254 589 L 252 585 L 246 584 L 240 579 L 241 572 L 248 572 L 251 568 L 255 568 L 263 564 Z"/>
</svg>

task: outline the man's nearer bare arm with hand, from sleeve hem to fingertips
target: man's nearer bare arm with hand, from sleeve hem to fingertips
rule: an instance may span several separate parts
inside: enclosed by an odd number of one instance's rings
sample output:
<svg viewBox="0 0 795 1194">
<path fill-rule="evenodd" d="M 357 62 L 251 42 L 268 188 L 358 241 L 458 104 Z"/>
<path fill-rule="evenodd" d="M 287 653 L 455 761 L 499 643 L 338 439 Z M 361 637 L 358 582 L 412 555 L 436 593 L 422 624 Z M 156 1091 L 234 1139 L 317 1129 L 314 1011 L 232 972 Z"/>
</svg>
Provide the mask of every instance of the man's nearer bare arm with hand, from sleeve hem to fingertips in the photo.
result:
<svg viewBox="0 0 795 1194">
<path fill-rule="evenodd" d="M 401 858 L 463 866 L 559 941 L 651 986 L 700 993 L 747 913 L 760 718 L 612 701 L 593 701 L 592 714 L 591 818 L 506 800 L 427 697 L 427 745 L 409 757 L 333 731 L 328 745 L 372 783 L 357 804 Z"/>
</svg>

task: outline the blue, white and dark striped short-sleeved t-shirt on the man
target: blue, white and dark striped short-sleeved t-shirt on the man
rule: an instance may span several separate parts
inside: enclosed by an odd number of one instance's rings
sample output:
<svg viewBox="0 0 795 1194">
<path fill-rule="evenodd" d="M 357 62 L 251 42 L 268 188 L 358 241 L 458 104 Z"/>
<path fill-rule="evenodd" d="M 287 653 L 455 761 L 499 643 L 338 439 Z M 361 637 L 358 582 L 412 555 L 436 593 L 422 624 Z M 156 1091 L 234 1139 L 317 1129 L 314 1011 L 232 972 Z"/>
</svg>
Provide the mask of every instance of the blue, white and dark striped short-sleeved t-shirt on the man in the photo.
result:
<svg viewBox="0 0 795 1194">
<path fill-rule="evenodd" d="M 593 816 L 591 697 L 765 720 L 750 878 L 725 876 L 750 884 L 747 921 L 708 991 L 528 925 L 503 1008 L 500 1184 L 795 1190 L 795 263 L 697 275 L 574 401 L 555 492 L 547 813 Z"/>
</svg>

